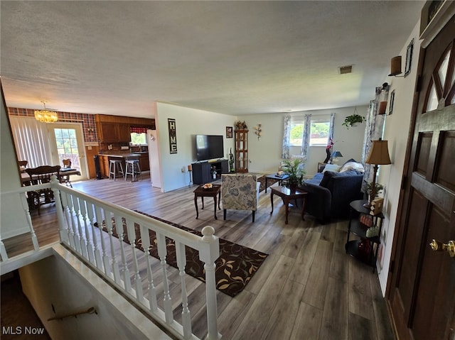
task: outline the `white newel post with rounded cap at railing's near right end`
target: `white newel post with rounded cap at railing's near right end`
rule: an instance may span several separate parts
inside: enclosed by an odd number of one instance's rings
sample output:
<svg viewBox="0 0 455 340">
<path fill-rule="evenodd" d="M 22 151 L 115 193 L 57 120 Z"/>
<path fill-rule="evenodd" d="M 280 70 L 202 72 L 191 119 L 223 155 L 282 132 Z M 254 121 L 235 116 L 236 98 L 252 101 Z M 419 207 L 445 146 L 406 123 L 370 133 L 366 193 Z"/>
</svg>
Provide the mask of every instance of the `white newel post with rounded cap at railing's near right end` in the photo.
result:
<svg viewBox="0 0 455 340">
<path fill-rule="evenodd" d="M 207 337 L 205 339 L 221 339 L 218 333 L 218 307 L 216 302 L 215 260 L 220 257 L 220 240 L 212 226 L 202 229 L 202 245 L 199 251 L 200 261 L 205 269 L 205 296 L 207 299 Z"/>
</svg>

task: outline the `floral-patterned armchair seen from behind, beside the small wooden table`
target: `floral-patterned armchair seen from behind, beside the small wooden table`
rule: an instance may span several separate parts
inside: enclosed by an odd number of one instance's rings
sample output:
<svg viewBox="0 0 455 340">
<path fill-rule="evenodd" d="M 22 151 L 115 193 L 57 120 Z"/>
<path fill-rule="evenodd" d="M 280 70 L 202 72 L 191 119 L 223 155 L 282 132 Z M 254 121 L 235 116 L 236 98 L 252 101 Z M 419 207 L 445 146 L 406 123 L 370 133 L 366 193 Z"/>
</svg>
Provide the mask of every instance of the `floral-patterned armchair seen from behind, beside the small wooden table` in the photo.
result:
<svg viewBox="0 0 455 340">
<path fill-rule="evenodd" d="M 257 202 L 259 201 L 259 185 L 256 175 L 221 175 L 223 218 L 226 219 L 227 209 L 251 210 L 252 221 L 254 222 Z"/>
</svg>

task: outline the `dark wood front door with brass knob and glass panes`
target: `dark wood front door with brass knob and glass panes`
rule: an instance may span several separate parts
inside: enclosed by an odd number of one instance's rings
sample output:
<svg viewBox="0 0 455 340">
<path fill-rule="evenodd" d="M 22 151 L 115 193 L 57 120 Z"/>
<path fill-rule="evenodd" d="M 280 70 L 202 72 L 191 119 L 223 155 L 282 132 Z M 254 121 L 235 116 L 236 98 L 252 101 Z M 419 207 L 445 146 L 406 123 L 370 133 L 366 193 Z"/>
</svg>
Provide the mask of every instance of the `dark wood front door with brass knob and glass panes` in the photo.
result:
<svg viewBox="0 0 455 340">
<path fill-rule="evenodd" d="M 419 60 L 417 105 L 387 300 L 400 339 L 455 339 L 455 17 Z"/>
</svg>

